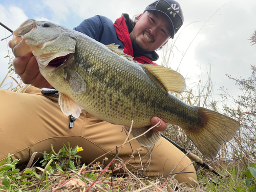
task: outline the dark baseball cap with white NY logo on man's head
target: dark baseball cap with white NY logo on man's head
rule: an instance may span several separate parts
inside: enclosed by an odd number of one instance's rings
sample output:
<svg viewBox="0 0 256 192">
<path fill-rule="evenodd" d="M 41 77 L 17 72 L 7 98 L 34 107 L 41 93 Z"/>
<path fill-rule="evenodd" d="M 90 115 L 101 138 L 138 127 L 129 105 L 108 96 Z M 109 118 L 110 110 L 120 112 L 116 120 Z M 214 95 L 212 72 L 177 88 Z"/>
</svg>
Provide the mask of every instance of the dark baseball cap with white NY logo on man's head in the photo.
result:
<svg viewBox="0 0 256 192">
<path fill-rule="evenodd" d="M 174 38 L 174 35 L 183 25 L 183 13 L 180 4 L 174 0 L 157 0 L 154 3 L 148 5 L 145 11 L 156 11 L 163 15 L 172 27 L 172 33 L 170 37 Z"/>
</svg>

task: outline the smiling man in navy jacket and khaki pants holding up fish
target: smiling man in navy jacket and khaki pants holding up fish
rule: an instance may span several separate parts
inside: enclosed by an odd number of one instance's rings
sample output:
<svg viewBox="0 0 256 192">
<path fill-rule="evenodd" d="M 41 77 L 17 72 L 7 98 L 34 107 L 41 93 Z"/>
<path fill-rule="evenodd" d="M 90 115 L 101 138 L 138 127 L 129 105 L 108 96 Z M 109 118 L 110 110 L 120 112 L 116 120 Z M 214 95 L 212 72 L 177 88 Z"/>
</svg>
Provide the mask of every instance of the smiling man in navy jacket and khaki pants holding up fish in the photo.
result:
<svg viewBox="0 0 256 192">
<path fill-rule="evenodd" d="M 174 0 L 158 0 L 148 5 L 135 22 L 127 14 L 123 14 L 114 24 L 110 19 L 97 15 L 84 20 L 74 30 L 105 45 L 115 42 L 124 49 L 124 53 L 135 57 L 134 60 L 156 65 L 153 62 L 158 59 L 155 50 L 165 45 L 169 38 L 174 38 L 182 24 L 180 5 Z M 69 128 L 70 118 L 60 111 L 58 96 L 47 92 L 44 92 L 44 95 L 41 89 L 38 89 L 52 86 L 39 73 L 37 62 L 31 53 L 15 58 L 13 65 L 23 81 L 32 86 L 26 89 L 25 93 L 0 90 L 2 101 L 6 101 L 0 106 L 0 137 L 2 143 L 8 143 L 0 148 L 0 161 L 11 153 L 20 159 L 20 162 L 25 162 L 34 152 L 50 152 L 51 144 L 57 150 L 63 143 L 69 142 L 73 147 L 83 147 L 84 151 L 79 153 L 81 161 L 90 163 L 124 142 L 126 133 L 122 126 L 102 121 L 84 110 L 74 121 L 73 127 Z M 9 117 L 12 117 L 11 120 Z M 159 121 L 158 130 L 164 131 L 167 125 L 160 118 L 153 117 L 152 125 Z M 143 148 L 143 151 L 135 153 L 135 158 L 129 161 L 127 168 L 137 170 L 144 176 L 195 172 L 190 160 L 163 138 L 151 149 L 141 147 L 133 140 L 124 145 L 119 157 L 124 162 L 128 161 L 137 148 Z M 114 155 L 115 153 L 112 153 L 106 157 L 110 161 Z M 196 174 L 178 174 L 175 178 L 179 182 L 194 185 L 189 177 L 196 179 Z"/>
</svg>

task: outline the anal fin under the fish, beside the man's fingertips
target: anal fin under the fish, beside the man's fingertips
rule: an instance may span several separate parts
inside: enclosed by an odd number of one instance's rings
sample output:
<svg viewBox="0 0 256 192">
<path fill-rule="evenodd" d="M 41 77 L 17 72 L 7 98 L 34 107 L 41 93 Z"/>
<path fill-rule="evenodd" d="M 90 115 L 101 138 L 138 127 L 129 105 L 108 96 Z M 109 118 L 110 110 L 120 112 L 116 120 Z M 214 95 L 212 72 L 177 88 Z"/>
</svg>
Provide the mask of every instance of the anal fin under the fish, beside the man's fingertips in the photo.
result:
<svg viewBox="0 0 256 192">
<path fill-rule="evenodd" d="M 133 137 L 137 137 L 141 134 L 144 134 L 148 129 L 150 129 L 150 126 L 133 128 L 131 134 L 133 135 Z M 157 141 L 159 141 L 160 137 L 161 136 L 159 131 L 153 128 L 144 135 L 138 137 L 136 140 L 145 147 L 152 147 L 156 144 Z"/>
</svg>

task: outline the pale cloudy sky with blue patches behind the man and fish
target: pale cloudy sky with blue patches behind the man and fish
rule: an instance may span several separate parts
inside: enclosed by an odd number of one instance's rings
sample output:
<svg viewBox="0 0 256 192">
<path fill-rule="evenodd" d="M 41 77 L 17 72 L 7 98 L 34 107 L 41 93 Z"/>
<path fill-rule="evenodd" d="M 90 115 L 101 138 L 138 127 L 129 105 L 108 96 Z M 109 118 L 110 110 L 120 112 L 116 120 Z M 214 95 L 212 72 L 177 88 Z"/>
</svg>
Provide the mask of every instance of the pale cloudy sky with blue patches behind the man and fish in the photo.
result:
<svg viewBox="0 0 256 192">
<path fill-rule="evenodd" d="M 143 12 L 153 0 L 0 0 L 0 22 L 15 30 L 26 19 L 50 20 L 73 28 L 83 19 L 104 15 L 113 22 L 122 13 L 130 17 Z M 214 82 L 214 99 L 218 100 L 222 86 L 229 93 L 239 93 L 234 78 L 248 78 L 250 65 L 256 65 L 256 46 L 251 46 L 250 36 L 256 30 L 256 1 L 251 0 L 180 0 L 184 25 L 169 46 L 174 45 L 168 66 L 187 78 L 187 86 L 196 89 L 199 79 Z M 0 38 L 10 32 L 0 26 Z M 11 38 L 9 38 L 11 39 Z M 162 57 L 166 47 L 159 50 Z M 168 52 L 169 54 L 169 52 Z M 185 55 L 184 55 L 185 54 Z M 8 71 L 7 41 L 0 41 L 0 81 Z M 184 55 L 184 57 L 182 57 Z M 161 59 L 158 60 L 161 64 Z"/>
</svg>

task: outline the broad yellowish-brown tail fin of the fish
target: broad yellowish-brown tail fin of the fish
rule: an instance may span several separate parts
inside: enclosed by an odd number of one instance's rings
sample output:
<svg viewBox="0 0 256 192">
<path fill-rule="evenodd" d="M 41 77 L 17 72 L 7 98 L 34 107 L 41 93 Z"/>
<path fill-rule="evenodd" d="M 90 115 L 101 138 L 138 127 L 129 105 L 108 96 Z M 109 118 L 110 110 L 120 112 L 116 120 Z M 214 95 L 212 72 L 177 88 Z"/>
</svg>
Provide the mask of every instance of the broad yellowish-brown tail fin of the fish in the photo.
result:
<svg viewBox="0 0 256 192">
<path fill-rule="evenodd" d="M 194 107 L 199 110 L 202 123 L 184 132 L 207 159 L 214 159 L 221 145 L 237 134 L 240 123 L 215 111 Z"/>
</svg>

